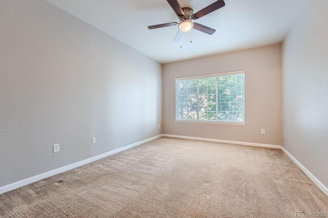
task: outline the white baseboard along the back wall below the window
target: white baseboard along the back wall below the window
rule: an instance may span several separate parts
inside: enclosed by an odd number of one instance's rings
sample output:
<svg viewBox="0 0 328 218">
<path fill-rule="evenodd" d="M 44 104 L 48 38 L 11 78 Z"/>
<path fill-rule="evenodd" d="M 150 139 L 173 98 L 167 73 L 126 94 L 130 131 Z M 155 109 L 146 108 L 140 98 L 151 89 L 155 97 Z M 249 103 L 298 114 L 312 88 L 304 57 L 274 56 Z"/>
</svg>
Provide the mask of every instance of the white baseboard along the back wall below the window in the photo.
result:
<svg viewBox="0 0 328 218">
<path fill-rule="evenodd" d="M 162 134 L 162 136 L 171 137 L 171 138 L 185 138 L 185 139 L 200 140 L 200 141 L 214 141 L 214 142 L 228 143 L 228 144 L 241 144 L 242 146 L 255 146 L 255 147 L 272 148 L 272 149 L 280 149 L 281 148 L 281 146 L 276 146 L 275 144 L 261 144 L 261 143 L 253 143 L 253 142 L 229 141 L 229 140 L 221 140 L 221 139 L 213 139 L 213 138 L 199 138 L 199 137 L 169 135 L 169 134 Z"/>
</svg>

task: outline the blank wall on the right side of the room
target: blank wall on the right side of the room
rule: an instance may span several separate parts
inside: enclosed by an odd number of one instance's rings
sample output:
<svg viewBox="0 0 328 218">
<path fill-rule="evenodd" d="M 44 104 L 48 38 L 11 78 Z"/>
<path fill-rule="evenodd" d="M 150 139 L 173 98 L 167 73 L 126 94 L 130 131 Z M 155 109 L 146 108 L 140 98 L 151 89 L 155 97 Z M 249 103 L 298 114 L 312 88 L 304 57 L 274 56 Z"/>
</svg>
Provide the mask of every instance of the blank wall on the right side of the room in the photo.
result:
<svg viewBox="0 0 328 218">
<path fill-rule="evenodd" d="M 309 1 L 283 43 L 283 147 L 328 187 L 328 1 Z"/>
</svg>

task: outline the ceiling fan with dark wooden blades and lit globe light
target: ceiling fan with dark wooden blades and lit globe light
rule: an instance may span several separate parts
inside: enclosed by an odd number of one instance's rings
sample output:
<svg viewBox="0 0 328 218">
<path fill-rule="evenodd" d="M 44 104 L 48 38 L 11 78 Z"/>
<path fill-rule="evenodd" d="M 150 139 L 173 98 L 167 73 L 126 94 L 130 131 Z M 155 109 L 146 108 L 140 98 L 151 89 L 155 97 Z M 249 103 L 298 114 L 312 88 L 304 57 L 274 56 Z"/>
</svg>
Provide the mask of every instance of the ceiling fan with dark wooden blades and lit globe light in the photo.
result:
<svg viewBox="0 0 328 218">
<path fill-rule="evenodd" d="M 206 8 L 201 9 L 197 13 L 194 14 L 193 9 L 191 8 L 181 8 L 177 0 L 167 0 L 174 12 L 178 15 L 178 18 L 180 20 L 180 23 L 178 22 L 169 22 L 169 23 L 163 23 L 159 25 L 153 25 L 149 26 L 148 29 L 157 29 L 162 27 L 170 27 L 178 25 L 179 31 L 175 36 L 174 42 L 179 42 L 181 39 L 181 36 L 183 32 L 188 32 L 191 29 L 195 29 L 198 31 L 201 31 L 203 33 L 207 33 L 209 35 L 212 35 L 215 33 L 216 30 L 209 28 L 207 26 L 201 25 L 199 23 L 194 23 L 191 20 L 196 20 L 200 17 L 203 17 L 209 13 L 212 13 L 213 11 L 216 11 L 226 5 L 223 0 L 218 0 L 215 3 L 207 6 Z"/>
</svg>

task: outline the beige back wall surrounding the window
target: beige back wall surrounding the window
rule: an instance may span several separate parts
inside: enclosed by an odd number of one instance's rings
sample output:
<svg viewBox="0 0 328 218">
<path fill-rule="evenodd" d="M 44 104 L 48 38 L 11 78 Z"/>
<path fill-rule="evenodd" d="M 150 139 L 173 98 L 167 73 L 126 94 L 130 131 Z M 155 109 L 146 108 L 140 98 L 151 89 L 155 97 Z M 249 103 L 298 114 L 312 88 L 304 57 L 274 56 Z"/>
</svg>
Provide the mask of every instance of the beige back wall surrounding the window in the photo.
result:
<svg viewBox="0 0 328 218">
<path fill-rule="evenodd" d="M 245 70 L 246 126 L 174 122 L 175 78 L 236 70 Z M 163 133 L 281 145 L 281 45 L 165 64 Z"/>
</svg>

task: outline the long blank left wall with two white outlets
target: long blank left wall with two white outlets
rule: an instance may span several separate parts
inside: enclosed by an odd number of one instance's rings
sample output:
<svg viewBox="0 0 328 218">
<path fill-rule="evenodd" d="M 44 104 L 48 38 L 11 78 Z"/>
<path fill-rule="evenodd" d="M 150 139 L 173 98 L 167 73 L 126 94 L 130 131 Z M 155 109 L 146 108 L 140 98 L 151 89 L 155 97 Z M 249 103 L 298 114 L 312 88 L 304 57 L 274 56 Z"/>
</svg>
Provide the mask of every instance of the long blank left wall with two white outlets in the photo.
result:
<svg viewBox="0 0 328 218">
<path fill-rule="evenodd" d="M 0 1 L 0 187 L 160 134 L 161 84 L 161 64 L 50 3 Z"/>
</svg>

